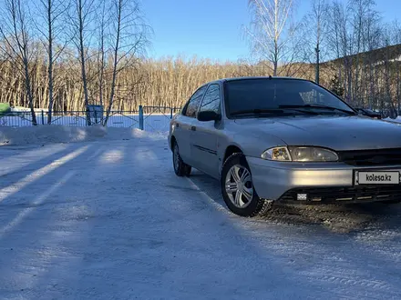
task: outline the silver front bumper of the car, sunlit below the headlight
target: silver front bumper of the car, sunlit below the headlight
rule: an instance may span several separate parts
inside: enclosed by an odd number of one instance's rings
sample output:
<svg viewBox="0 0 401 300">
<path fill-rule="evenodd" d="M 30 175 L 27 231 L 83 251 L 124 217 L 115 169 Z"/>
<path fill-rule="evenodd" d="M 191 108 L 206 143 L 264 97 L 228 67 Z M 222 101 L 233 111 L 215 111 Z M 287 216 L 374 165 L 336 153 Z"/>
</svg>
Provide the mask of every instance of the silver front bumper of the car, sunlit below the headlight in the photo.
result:
<svg viewBox="0 0 401 300">
<path fill-rule="evenodd" d="M 369 202 L 401 198 L 401 185 L 354 185 L 355 170 L 392 170 L 398 166 L 355 167 L 342 163 L 280 163 L 247 157 L 256 193 L 264 199 L 285 202 L 306 194 L 304 202 Z M 390 199 L 391 198 L 391 199 Z"/>
</svg>

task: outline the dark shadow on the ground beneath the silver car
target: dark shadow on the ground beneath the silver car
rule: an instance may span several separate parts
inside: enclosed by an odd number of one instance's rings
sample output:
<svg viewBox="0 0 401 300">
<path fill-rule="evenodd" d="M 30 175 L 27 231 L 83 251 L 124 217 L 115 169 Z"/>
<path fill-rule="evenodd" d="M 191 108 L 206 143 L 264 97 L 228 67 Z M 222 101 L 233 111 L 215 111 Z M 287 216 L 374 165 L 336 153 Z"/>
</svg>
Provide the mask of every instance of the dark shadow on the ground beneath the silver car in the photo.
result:
<svg viewBox="0 0 401 300">
<path fill-rule="evenodd" d="M 221 197 L 219 182 L 198 170 L 190 180 L 214 201 L 227 207 Z M 371 228 L 398 230 L 401 227 L 401 205 L 366 203 L 360 205 L 283 205 L 275 204 L 265 216 L 255 222 L 291 225 L 319 225 L 336 233 L 355 233 Z"/>
</svg>

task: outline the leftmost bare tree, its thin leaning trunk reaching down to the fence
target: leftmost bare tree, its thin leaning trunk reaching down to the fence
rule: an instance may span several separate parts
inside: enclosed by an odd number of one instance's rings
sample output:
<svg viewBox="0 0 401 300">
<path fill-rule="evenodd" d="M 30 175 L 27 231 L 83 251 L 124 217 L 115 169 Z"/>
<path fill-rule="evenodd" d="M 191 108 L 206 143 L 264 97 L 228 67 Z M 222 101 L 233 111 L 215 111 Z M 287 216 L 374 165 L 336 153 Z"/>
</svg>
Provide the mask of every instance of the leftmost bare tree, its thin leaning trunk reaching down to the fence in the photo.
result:
<svg viewBox="0 0 401 300">
<path fill-rule="evenodd" d="M 22 69 L 25 81 L 28 105 L 32 115 L 32 124 L 37 125 L 34 110 L 34 96 L 31 85 L 30 63 L 33 58 L 32 43 L 29 30 L 32 28 L 24 0 L 5 0 L 0 21 L 0 35 L 5 41 L 5 53 L 9 58 L 15 57 L 15 65 Z"/>
</svg>

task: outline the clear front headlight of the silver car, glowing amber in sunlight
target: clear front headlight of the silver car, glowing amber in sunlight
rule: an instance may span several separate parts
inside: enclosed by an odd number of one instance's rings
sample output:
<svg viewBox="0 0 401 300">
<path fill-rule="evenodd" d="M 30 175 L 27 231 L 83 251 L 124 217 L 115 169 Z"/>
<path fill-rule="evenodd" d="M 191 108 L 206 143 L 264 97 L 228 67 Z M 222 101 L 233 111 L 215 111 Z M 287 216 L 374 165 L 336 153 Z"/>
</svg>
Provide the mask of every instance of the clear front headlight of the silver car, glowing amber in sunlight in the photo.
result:
<svg viewBox="0 0 401 300">
<path fill-rule="evenodd" d="M 281 162 L 336 162 L 338 155 L 332 150 L 314 146 L 281 146 L 262 153 L 263 159 Z"/>
</svg>

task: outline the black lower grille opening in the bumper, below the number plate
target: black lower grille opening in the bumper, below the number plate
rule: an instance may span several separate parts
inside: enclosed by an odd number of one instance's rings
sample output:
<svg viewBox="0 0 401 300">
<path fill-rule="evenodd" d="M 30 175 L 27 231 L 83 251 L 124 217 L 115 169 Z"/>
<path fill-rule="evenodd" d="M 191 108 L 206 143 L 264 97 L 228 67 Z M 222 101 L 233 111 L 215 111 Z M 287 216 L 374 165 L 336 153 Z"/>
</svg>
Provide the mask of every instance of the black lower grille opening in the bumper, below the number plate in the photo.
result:
<svg viewBox="0 0 401 300">
<path fill-rule="evenodd" d="M 298 194 L 306 194 L 307 200 L 297 200 Z M 280 201 L 298 203 L 338 203 L 387 201 L 401 198 L 401 185 L 306 187 L 287 191 Z"/>
</svg>

